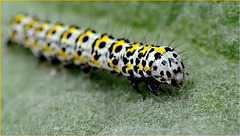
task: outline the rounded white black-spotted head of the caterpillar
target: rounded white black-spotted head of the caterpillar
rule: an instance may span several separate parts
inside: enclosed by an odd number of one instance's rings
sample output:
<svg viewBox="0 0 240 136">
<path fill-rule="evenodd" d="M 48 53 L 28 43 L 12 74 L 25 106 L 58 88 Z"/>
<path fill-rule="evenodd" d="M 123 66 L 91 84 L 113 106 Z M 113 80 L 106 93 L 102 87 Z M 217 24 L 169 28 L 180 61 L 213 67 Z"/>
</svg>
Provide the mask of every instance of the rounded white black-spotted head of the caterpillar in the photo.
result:
<svg viewBox="0 0 240 136">
<path fill-rule="evenodd" d="M 166 47 L 166 52 L 155 59 L 152 65 L 152 76 L 160 83 L 173 86 L 182 85 L 185 70 L 182 60 L 174 49 Z"/>
</svg>

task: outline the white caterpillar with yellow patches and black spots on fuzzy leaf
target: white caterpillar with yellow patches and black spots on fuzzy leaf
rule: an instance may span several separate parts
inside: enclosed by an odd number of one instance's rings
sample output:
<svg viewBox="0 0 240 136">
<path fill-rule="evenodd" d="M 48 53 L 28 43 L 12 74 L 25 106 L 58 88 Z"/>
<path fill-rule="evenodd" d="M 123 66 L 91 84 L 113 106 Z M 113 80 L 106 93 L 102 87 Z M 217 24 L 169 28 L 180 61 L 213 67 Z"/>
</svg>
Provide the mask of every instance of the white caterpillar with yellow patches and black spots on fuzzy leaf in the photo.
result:
<svg viewBox="0 0 240 136">
<path fill-rule="evenodd" d="M 89 72 L 91 68 L 109 70 L 128 78 L 138 92 L 144 82 L 154 95 L 161 84 L 181 86 L 186 74 L 179 54 L 169 46 L 154 46 L 106 33 L 62 23 L 40 21 L 23 13 L 9 22 L 9 41 L 22 44 L 34 56 L 62 65 L 75 64 Z"/>
</svg>

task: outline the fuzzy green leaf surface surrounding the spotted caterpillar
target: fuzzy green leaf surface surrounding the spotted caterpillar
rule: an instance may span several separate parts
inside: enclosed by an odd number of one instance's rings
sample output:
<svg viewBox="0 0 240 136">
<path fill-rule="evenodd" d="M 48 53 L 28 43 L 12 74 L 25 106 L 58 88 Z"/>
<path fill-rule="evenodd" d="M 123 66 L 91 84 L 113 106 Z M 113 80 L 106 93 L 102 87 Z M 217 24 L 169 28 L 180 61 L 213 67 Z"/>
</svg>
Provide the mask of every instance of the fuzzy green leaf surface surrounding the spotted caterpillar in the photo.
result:
<svg viewBox="0 0 240 136">
<path fill-rule="evenodd" d="M 6 48 L 18 12 L 91 27 L 181 52 L 184 86 L 144 97 L 123 76 L 77 69 L 51 75 L 20 45 Z M 2 134 L 239 134 L 238 2 L 1 2 Z M 131 35 L 131 32 L 134 36 Z M 190 57 L 189 57 L 190 56 Z M 189 58 L 188 58 L 189 57 Z"/>
</svg>

